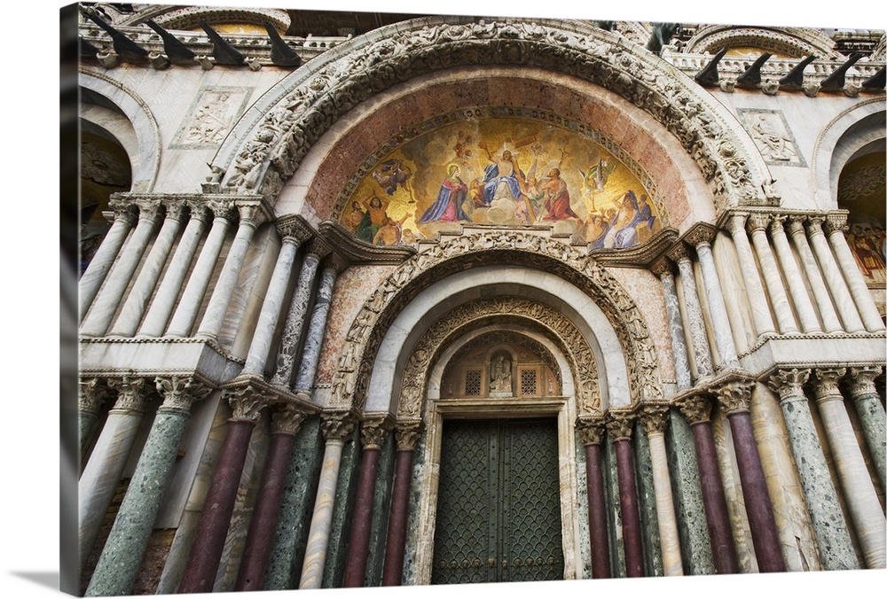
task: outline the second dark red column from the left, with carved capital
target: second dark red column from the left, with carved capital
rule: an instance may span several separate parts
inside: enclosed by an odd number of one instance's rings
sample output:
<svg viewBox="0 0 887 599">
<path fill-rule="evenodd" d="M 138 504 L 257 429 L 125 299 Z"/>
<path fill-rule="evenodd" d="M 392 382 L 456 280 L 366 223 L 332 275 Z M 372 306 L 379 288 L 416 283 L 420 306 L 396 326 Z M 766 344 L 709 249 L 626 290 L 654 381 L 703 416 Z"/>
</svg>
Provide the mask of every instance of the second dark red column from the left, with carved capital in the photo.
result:
<svg viewBox="0 0 887 599">
<path fill-rule="evenodd" d="M 295 433 L 305 414 L 292 406 L 279 406 L 271 415 L 271 443 L 262 473 L 259 495 L 243 548 L 243 558 L 234 590 L 260 591 L 271 555 L 280 502 L 287 479 L 287 466 L 293 454 Z"/>
</svg>

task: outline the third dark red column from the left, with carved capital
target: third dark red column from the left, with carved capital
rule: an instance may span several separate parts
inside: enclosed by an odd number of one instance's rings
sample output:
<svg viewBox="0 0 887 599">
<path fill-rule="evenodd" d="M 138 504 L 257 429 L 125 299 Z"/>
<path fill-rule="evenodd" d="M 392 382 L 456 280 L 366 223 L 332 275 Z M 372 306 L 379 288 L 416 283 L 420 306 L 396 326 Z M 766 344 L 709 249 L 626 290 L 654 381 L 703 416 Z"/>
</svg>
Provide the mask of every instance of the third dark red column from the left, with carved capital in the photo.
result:
<svg viewBox="0 0 887 599">
<path fill-rule="evenodd" d="M 360 429 L 363 455 L 357 478 L 357 499 L 351 518 L 351 536 L 342 587 L 363 587 L 366 577 L 366 558 L 370 546 L 370 525 L 373 522 L 373 495 L 376 490 L 376 472 L 379 454 L 388 436 L 389 427 L 384 418 L 366 420 Z"/>
</svg>

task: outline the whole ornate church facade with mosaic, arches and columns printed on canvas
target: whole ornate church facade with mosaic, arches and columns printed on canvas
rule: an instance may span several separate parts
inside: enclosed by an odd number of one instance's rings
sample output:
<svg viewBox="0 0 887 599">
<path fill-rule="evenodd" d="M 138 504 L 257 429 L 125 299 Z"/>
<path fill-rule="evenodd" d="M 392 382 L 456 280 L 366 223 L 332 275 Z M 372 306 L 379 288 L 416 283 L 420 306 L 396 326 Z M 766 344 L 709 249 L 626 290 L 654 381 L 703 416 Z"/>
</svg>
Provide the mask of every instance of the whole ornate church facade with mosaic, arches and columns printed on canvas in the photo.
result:
<svg viewBox="0 0 887 599">
<path fill-rule="evenodd" d="M 887 567 L 883 31 L 72 19 L 66 590 Z"/>
</svg>

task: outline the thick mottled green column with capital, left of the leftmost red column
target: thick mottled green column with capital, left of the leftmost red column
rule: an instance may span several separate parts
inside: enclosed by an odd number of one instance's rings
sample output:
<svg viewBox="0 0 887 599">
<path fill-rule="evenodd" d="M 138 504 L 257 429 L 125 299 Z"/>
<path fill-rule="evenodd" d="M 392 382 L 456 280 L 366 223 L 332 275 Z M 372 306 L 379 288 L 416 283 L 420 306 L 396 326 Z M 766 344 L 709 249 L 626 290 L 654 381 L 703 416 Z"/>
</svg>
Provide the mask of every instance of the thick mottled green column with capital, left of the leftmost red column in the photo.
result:
<svg viewBox="0 0 887 599">
<path fill-rule="evenodd" d="M 192 377 L 157 377 L 156 384 L 163 403 L 154 416 L 86 596 L 132 594 L 191 416 L 191 404 L 209 392 Z"/>
</svg>

